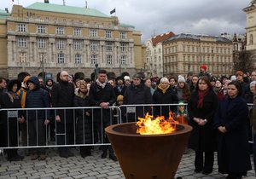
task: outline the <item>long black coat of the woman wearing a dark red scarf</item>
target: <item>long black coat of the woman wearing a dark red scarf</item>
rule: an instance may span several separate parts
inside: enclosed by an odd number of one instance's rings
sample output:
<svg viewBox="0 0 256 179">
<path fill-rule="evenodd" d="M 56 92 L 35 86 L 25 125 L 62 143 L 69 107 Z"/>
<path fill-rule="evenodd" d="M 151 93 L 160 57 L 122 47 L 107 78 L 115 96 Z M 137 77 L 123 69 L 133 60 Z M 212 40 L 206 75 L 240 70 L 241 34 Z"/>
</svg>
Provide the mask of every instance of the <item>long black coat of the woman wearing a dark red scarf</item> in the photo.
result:
<svg viewBox="0 0 256 179">
<path fill-rule="evenodd" d="M 209 90 L 208 94 L 203 99 L 203 107 L 197 107 L 198 90 L 190 97 L 188 103 L 189 125 L 193 127 L 189 138 L 189 147 L 195 151 L 212 152 L 215 148 L 215 133 L 213 130 L 213 115 L 218 107 L 218 97 Z M 207 119 L 207 124 L 200 126 L 193 118 Z"/>
</svg>

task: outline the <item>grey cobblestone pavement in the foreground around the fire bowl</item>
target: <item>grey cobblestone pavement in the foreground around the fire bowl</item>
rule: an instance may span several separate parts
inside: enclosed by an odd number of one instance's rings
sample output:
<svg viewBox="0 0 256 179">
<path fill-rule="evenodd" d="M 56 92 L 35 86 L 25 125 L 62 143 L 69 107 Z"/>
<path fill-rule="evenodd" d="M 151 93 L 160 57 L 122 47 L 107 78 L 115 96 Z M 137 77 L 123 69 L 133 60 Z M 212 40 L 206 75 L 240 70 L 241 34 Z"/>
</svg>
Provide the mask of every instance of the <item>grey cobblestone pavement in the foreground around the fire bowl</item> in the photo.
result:
<svg viewBox="0 0 256 179">
<path fill-rule="evenodd" d="M 0 157 L 0 179 L 4 178 L 107 178 L 107 179 L 123 179 L 125 178 L 118 162 L 113 162 L 111 159 L 101 159 L 101 152 L 98 147 L 92 150 L 92 156 L 82 158 L 79 155 L 79 150 L 72 148 L 75 153 L 74 157 L 63 159 L 59 157 L 56 148 L 47 149 L 48 158 L 44 161 L 31 160 L 26 157 L 19 162 L 9 162 Z M 23 154 L 22 149 L 19 153 Z M 224 175 L 218 173 L 218 166 L 215 165 L 213 172 L 206 176 L 201 173 L 194 173 L 195 155 L 192 150 L 187 150 L 183 154 L 183 159 L 178 167 L 177 176 L 182 176 L 183 179 L 214 179 L 225 178 Z M 252 160 L 253 161 L 253 160 Z M 246 179 L 255 179 L 256 176 L 253 170 L 248 171 Z"/>
</svg>

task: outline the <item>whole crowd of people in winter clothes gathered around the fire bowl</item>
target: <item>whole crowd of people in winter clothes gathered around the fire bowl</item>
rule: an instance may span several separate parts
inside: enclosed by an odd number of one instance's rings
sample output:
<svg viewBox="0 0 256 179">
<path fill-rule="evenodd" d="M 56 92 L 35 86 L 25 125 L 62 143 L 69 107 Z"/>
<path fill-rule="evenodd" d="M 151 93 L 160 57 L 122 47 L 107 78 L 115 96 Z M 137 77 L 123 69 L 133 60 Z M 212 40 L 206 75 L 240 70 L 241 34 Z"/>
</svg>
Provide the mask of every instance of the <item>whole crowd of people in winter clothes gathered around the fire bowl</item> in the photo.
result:
<svg viewBox="0 0 256 179">
<path fill-rule="evenodd" d="M 7 113 L 3 111 L 0 147 L 7 144 L 9 147 L 17 146 L 18 132 L 23 145 L 45 146 L 45 127 L 49 127 L 50 139 L 61 145 L 58 147 L 59 155 L 68 158 L 73 153 L 66 144 L 90 144 L 100 140 L 99 136 L 102 136 L 102 142 L 109 142 L 103 131 L 114 121 L 113 111 L 109 107 L 146 105 L 138 106 L 129 113 L 126 109 L 122 110 L 123 122 L 131 122 L 147 112 L 152 113 L 152 107 L 147 105 L 163 104 L 154 107 L 154 116 L 168 118 L 172 111 L 179 123 L 193 127 L 188 147 L 195 150 L 196 173 L 212 173 L 214 152 L 217 151 L 218 171 L 229 174 L 228 179 L 241 178 L 247 174 L 247 170 L 252 169 L 251 152 L 255 153 L 256 164 L 256 133 L 250 133 L 252 127 L 256 131 L 256 109 L 247 106 L 247 103 L 256 105 L 255 89 L 256 71 L 249 76 L 238 71 L 230 77 L 215 77 L 207 72 L 206 65 L 201 66 L 201 72 L 188 72 L 186 77 L 145 78 L 143 73 L 137 73 L 130 78 L 127 73 L 117 78 L 107 78 L 107 72 L 101 69 L 95 81 L 73 79 L 66 71 L 60 72 L 56 83 L 51 78 L 44 81 L 41 77 L 26 76 L 22 82 L 12 79 L 7 84 L 7 79 L 0 78 L 0 105 L 3 109 L 101 107 L 93 111 L 66 109 L 56 110 L 55 113 L 18 111 L 13 117 L 18 119 L 18 123 L 15 119 L 7 119 Z M 92 118 L 95 118 L 94 124 Z M 15 130 L 17 125 L 20 131 Z M 75 131 L 73 126 L 76 126 Z M 252 135 L 254 137 L 250 138 Z M 255 140 L 253 147 L 250 147 L 249 139 Z M 81 145 L 79 149 L 83 158 L 91 155 L 91 147 Z M 23 159 L 15 148 L 6 149 L 6 153 L 10 161 Z M 44 147 L 32 147 L 28 153 L 31 159 L 44 160 L 47 157 Z M 102 158 L 107 156 L 117 160 L 111 146 L 102 147 Z"/>
</svg>

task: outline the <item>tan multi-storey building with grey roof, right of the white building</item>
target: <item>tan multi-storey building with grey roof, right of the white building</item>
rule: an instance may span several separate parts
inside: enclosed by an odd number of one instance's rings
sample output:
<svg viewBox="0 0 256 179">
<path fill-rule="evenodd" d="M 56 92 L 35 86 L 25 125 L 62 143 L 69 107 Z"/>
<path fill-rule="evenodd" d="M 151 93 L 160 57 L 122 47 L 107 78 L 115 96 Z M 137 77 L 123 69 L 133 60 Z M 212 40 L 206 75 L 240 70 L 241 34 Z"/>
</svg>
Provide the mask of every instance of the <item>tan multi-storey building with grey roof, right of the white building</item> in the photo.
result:
<svg viewBox="0 0 256 179">
<path fill-rule="evenodd" d="M 181 33 L 163 43 L 164 75 L 198 74 L 202 64 L 212 75 L 233 72 L 233 44 L 227 38 Z"/>
</svg>

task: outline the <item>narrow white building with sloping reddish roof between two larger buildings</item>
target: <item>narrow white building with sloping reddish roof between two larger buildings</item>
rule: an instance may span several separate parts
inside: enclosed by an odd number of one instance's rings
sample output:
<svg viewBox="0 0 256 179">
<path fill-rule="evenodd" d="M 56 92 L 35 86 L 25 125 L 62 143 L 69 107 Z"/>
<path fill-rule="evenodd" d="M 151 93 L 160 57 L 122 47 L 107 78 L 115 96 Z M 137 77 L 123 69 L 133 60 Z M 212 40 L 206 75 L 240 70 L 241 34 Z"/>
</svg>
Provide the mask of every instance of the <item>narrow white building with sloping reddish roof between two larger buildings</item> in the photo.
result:
<svg viewBox="0 0 256 179">
<path fill-rule="evenodd" d="M 147 77 L 163 77 L 164 66 L 163 66 L 163 42 L 167 38 L 171 38 L 175 34 L 173 32 L 166 32 L 155 36 L 154 38 L 149 38 L 145 45 L 146 58 L 144 65 L 144 72 Z"/>
</svg>

